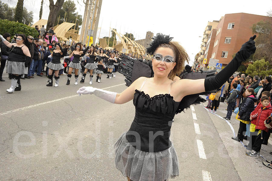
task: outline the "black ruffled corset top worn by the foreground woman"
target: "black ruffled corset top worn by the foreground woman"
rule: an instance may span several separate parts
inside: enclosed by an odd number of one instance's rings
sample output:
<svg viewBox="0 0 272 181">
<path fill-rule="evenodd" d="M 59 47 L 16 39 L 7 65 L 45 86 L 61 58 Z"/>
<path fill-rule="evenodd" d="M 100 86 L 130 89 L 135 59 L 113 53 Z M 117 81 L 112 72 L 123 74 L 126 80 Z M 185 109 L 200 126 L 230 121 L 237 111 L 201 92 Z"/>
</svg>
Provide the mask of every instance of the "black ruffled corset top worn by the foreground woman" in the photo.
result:
<svg viewBox="0 0 272 181">
<path fill-rule="evenodd" d="M 145 152 L 168 149 L 171 146 L 169 137 L 172 120 L 180 102 L 174 101 L 170 94 L 150 98 L 148 94 L 136 89 L 133 104 L 135 117 L 126 134 L 128 142 Z M 136 137 L 140 141 L 136 141 Z"/>
</svg>

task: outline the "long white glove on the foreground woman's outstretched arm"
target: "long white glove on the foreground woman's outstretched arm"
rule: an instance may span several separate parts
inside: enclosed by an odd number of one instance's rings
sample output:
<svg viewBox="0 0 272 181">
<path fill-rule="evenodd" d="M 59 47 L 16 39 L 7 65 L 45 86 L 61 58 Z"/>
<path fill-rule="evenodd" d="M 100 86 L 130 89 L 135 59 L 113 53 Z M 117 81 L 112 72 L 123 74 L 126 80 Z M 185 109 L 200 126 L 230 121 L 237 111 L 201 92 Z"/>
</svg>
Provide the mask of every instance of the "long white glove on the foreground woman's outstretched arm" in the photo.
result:
<svg viewBox="0 0 272 181">
<path fill-rule="evenodd" d="M 113 104 L 115 102 L 115 97 L 117 95 L 116 92 L 110 92 L 110 91 L 106 91 L 106 90 L 102 90 L 102 89 L 97 89 L 94 87 L 81 87 L 78 89 L 78 91 L 76 93 L 79 94 L 79 96 L 81 94 L 94 94 L 97 97 L 104 99 L 108 102 L 111 102 Z"/>
</svg>

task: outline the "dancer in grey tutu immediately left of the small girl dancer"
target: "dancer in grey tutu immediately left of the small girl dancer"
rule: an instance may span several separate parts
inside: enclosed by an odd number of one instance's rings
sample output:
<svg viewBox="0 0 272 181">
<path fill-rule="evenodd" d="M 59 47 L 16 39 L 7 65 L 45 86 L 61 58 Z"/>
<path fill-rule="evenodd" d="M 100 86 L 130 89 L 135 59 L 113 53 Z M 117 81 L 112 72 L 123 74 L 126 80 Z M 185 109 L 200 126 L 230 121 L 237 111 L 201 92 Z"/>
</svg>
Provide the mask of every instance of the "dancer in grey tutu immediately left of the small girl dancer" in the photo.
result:
<svg viewBox="0 0 272 181">
<path fill-rule="evenodd" d="M 84 80 L 85 80 L 85 77 L 86 77 L 86 73 L 88 72 L 88 70 L 90 70 L 90 82 L 89 84 L 92 84 L 92 78 L 93 78 L 93 70 L 97 68 L 97 65 L 95 63 L 95 59 L 96 57 L 98 57 L 97 53 L 95 52 L 96 48 L 95 46 L 91 46 L 90 48 L 90 53 L 86 54 L 86 56 L 89 56 L 89 62 L 84 66 L 85 67 L 85 70 L 84 70 L 84 73 L 82 75 L 82 78 L 80 80 L 80 83 L 84 83 Z"/>
</svg>

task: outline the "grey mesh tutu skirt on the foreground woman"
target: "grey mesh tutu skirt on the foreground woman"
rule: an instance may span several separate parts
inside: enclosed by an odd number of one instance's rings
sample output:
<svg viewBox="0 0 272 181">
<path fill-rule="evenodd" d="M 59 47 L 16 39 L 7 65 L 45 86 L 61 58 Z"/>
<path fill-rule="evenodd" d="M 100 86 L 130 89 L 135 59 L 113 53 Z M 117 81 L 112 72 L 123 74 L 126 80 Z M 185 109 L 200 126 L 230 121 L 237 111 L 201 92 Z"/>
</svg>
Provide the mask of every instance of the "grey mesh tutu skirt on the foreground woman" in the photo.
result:
<svg viewBox="0 0 272 181">
<path fill-rule="evenodd" d="M 127 141 L 125 132 L 114 147 L 116 168 L 133 181 L 164 181 L 179 175 L 179 162 L 173 144 L 163 151 L 144 152 Z"/>
</svg>

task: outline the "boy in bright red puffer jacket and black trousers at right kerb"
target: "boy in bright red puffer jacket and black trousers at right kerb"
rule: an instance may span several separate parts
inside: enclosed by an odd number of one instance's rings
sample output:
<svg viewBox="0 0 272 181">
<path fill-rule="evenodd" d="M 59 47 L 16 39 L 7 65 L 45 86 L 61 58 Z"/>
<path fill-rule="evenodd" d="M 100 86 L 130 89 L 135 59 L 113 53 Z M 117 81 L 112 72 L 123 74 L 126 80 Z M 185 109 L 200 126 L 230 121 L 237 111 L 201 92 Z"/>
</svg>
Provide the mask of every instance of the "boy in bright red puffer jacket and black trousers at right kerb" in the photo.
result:
<svg viewBox="0 0 272 181">
<path fill-rule="evenodd" d="M 250 157 L 258 157 L 260 154 L 261 146 L 264 141 L 264 137 L 267 134 L 267 128 L 264 125 L 264 121 L 271 115 L 272 107 L 270 100 L 267 96 L 261 98 L 261 108 L 257 112 L 256 131 L 258 131 L 255 142 L 252 146 L 251 152 L 246 152 L 246 155 Z"/>
</svg>

